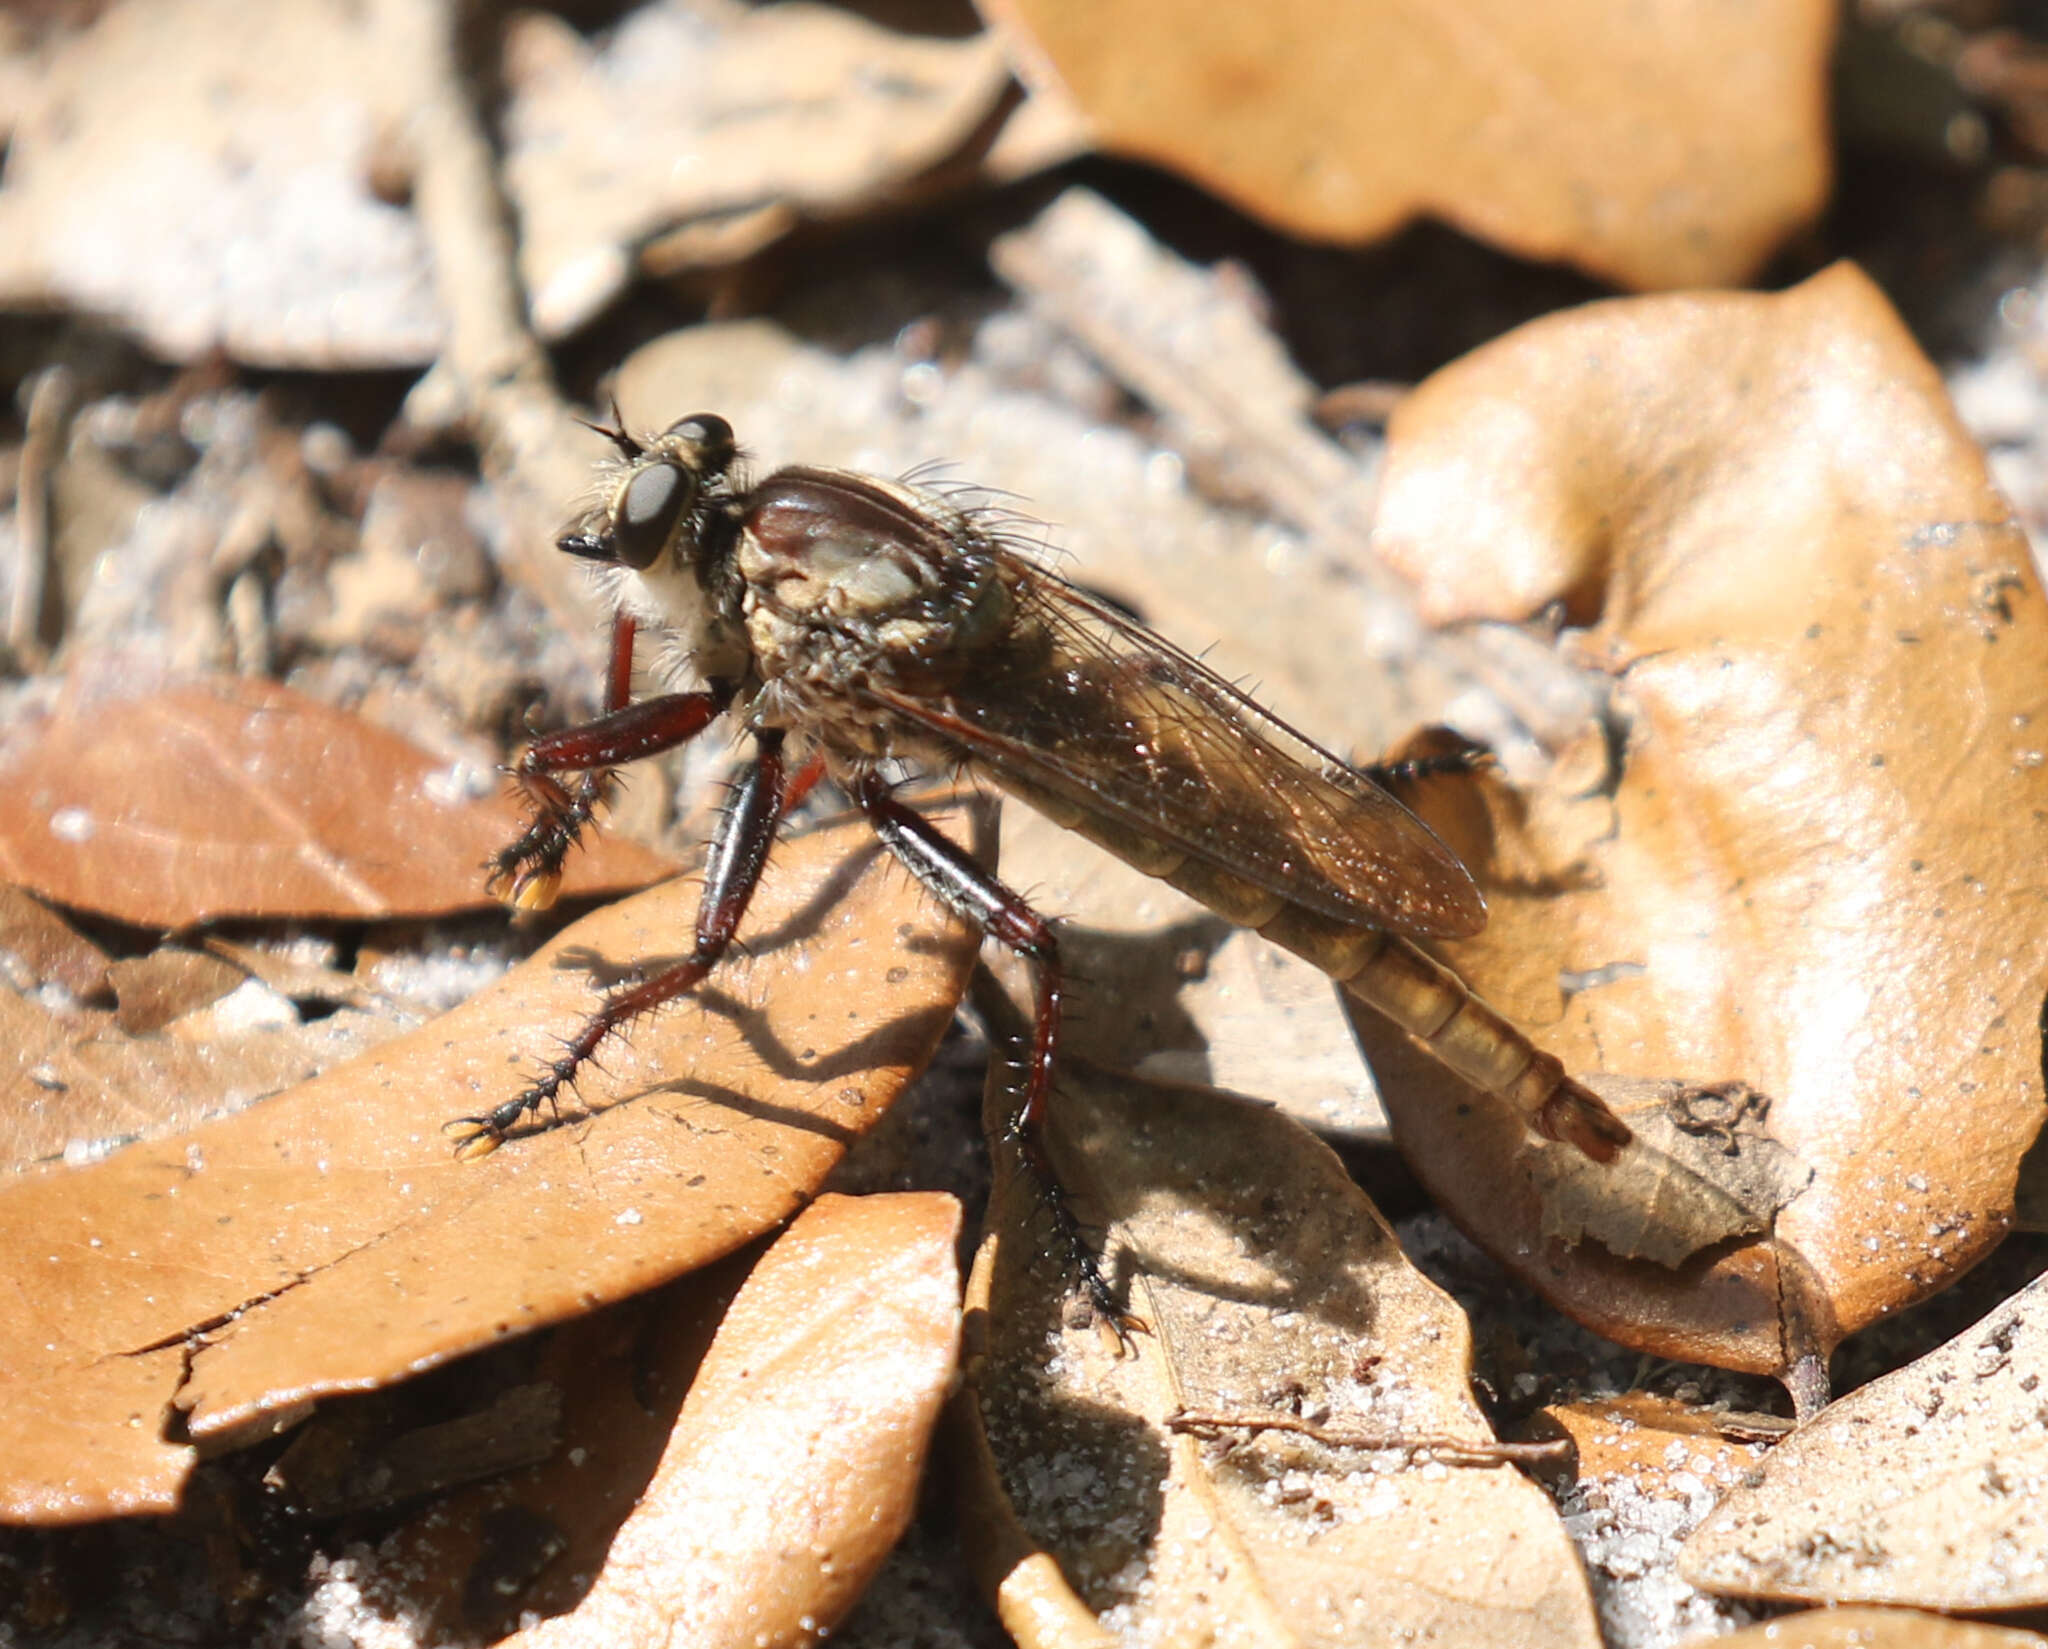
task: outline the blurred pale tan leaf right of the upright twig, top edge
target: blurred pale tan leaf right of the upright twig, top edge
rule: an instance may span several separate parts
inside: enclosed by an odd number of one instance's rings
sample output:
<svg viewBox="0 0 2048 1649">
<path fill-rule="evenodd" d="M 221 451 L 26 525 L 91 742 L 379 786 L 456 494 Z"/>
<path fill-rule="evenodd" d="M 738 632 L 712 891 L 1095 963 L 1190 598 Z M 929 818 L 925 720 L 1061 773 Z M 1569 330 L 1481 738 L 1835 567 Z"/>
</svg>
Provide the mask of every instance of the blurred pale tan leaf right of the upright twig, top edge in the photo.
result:
<svg viewBox="0 0 2048 1649">
<path fill-rule="evenodd" d="M 887 197 L 967 141 L 1010 70 L 985 35 L 920 39 L 805 0 L 657 0 L 596 49 L 559 18 L 514 18 L 506 82 L 520 272 L 535 326 L 561 336 L 655 234 L 664 270 L 731 262 L 805 211 Z"/>
</svg>

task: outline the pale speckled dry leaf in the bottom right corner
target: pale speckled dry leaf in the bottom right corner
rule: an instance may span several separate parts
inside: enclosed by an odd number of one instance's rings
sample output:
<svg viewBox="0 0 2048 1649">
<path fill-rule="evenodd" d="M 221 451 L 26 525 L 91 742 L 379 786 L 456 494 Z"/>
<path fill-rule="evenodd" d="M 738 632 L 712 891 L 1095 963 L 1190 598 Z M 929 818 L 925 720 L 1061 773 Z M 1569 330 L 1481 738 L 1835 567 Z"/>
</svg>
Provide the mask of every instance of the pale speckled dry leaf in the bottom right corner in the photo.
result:
<svg viewBox="0 0 2048 1649">
<path fill-rule="evenodd" d="M 1686 1542 L 1739 1596 L 2048 1604 L 2048 1278 L 1802 1426 Z"/>
</svg>

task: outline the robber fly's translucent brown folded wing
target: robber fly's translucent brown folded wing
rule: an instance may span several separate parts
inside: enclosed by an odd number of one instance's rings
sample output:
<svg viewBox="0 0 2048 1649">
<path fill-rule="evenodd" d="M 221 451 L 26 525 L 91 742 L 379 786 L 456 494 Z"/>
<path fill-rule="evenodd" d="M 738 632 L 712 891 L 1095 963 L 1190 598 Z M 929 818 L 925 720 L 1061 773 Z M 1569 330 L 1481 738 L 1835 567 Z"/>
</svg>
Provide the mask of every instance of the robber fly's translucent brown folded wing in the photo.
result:
<svg viewBox="0 0 2048 1649">
<path fill-rule="evenodd" d="M 1436 834 L 1208 666 L 1008 551 L 1012 625 L 944 692 L 868 696 L 995 778 L 1171 842 L 1290 903 L 1425 938 L 1485 926 Z"/>
</svg>

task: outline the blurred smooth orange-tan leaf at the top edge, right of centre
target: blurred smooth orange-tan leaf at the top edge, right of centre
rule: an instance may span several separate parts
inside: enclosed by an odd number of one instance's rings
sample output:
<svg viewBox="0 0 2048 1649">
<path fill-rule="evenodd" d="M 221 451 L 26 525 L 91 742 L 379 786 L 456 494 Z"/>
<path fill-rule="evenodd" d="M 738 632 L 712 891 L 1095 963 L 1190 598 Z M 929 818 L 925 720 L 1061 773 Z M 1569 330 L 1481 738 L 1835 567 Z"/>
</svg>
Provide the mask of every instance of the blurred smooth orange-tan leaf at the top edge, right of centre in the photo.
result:
<svg viewBox="0 0 2048 1649">
<path fill-rule="evenodd" d="M 1743 281 L 1827 193 L 1835 8 L 981 0 L 1100 141 L 1292 234 L 1417 213 L 1634 287 Z"/>
</svg>

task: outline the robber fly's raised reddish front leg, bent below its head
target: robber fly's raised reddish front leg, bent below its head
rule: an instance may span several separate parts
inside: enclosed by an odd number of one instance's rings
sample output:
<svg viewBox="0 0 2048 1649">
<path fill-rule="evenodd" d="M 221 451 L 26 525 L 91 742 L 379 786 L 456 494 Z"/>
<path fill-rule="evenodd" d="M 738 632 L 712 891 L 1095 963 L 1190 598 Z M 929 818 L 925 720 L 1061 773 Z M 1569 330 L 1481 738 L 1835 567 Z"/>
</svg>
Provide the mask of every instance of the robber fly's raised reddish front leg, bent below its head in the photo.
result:
<svg viewBox="0 0 2048 1649">
<path fill-rule="evenodd" d="M 705 692 L 666 692 L 528 744 L 512 776 L 535 803 L 532 823 L 492 858 L 489 891 L 520 910 L 551 905 L 563 860 L 604 801 L 612 768 L 688 744 L 731 703 L 727 682 Z M 561 772 L 580 778 L 563 785 L 555 776 Z"/>
</svg>

